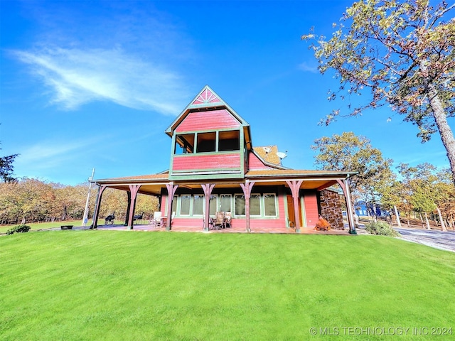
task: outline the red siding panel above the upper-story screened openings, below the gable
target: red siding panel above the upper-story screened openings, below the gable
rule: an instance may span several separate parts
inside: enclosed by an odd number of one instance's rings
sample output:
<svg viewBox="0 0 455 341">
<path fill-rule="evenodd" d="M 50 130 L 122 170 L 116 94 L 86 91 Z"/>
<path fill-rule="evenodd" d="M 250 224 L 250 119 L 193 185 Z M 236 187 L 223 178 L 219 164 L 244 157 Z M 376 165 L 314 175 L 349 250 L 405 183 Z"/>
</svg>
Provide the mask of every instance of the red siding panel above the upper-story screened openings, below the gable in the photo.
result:
<svg viewBox="0 0 455 341">
<path fill-rule="evenodd" d="M 176 132 L 238 128 L 240 122 L 226 109 L 191 112 L 178 125 Z"/>
</svg>

